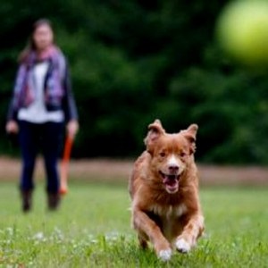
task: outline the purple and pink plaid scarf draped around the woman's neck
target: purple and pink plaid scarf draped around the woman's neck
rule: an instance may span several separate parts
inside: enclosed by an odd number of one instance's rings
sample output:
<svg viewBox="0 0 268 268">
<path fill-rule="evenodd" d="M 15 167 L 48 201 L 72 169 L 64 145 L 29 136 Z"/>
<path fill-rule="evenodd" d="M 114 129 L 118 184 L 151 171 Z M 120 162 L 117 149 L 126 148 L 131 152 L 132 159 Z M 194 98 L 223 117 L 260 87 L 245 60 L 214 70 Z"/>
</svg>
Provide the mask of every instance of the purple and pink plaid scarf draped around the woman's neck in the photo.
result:
<svg viewBox="0 0 268 268">
<path fill-rule="evenodd" d="M 42 54 L 30 52 L 26 61 L 21 63 L 14 87 L 14 106 L 17 109 L 28 107 L 35 99 L 33 68 L 40 61 L 48 61 L 48 70 L 45 77 L 46 105 L 61 105 L 63 97 L 63 77 L 65 60 L 61 50 L 50 46 Z"/>
</svg>

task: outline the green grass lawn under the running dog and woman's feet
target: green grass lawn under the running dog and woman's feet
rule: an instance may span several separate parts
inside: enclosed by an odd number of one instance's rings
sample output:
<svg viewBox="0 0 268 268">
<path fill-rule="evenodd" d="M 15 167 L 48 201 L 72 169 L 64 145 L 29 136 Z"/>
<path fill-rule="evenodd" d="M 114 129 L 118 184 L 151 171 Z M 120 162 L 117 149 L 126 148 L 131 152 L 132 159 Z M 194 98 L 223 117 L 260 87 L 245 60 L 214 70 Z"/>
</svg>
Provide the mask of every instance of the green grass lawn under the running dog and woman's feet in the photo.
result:
<svg viewBox="0 0 268 268">
<path fill-rule="evenodd" d="M 167 264 L 138 248 L 127 186 L 72 182 L 54 213 L 41 182 L 29 214 L 15 183 L 0 196 L 0 267 L 267 267 L 267 188 L 202 188 L 205 237 Z"/>
</svg>

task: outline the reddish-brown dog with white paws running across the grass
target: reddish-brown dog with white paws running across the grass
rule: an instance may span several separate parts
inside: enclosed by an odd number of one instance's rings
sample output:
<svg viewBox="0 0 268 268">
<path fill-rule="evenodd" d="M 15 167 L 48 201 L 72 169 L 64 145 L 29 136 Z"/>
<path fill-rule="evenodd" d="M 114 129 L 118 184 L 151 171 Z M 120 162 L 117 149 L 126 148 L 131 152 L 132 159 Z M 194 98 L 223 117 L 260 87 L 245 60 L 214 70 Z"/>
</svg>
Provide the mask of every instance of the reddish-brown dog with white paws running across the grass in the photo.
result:
<svg viewBox="0 0 268 268">
<path fill-rule="evenodd" d="M 163 261 L 172 249 L 187 253 L 204 230 L 194 161 L 197 125 L 168 134 L 159 120 L 148 126 L 147 150 L 130 176 L 132 225 L 141 247 L 150 241 Z"/>
</svg>

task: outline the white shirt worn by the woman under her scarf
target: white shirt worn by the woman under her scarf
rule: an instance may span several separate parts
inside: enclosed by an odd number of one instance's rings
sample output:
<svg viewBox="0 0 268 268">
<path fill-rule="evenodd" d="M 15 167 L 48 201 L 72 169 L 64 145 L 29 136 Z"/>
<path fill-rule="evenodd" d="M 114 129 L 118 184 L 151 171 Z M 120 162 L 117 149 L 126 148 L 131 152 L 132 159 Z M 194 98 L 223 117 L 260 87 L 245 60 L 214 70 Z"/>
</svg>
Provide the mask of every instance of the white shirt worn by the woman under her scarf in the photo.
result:
<svg viewBox="0 0 268 268">
<path fill-rule="evenodd" d="M 18 113 L 18 119 L 33 123 L 45 123 L 47 121 L 62 122 L 64 120 L 63 111 L 46 111 L 44 99 L 44 82 L 48 63 L 37 63 L 29 73 L 30 82 L 34 88 L 34 101 L 27 108 L 21 108 Z"/>
</svg>

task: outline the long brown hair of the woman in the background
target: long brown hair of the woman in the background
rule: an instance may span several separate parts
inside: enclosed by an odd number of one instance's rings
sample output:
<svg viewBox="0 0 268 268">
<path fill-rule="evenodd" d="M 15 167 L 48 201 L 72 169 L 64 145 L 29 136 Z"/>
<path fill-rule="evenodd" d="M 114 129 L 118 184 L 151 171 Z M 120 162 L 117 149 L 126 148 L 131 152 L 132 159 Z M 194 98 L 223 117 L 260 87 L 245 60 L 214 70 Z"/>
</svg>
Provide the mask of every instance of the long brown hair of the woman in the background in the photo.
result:
<svg viewBox="0 0 268 268">
<path fill-rule="evenodd" d="M 19 63 L 25 63 L 28 60 L 29 54 L 32 51 L 35 51 L 37 49 L 33 36 L 34 36 L 35 31 L 41 25 L 46 25 L 50 29 L 53 29 L 51 22 L 47 19 L 40 19 L 40 20 L 36 21 L 32 26 L 31 34 L 30 34 L 29 41 L 28 41 L 27 45 L 24 47 L 24 49 L 19 54 L 19 57 L 18 57 Z"/>
</svg>

